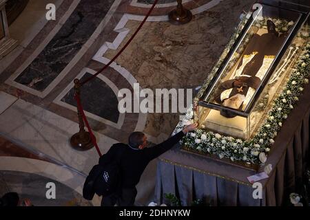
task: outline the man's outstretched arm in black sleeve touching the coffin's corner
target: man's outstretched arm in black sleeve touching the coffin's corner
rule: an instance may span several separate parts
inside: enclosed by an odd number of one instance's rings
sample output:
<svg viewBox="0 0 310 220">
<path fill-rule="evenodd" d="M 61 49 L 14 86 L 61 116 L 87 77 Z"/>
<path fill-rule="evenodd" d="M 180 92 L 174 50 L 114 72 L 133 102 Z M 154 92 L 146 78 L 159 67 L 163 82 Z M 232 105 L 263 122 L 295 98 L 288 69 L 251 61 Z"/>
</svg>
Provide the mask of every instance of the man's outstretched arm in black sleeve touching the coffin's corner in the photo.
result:
<svg viewBox="0 0 310 220">
<path fill-rule="evenodd" d="M 165 140 L 161 144 L 157 144 L 156 146 L 153 146 L 151 148 L 146 148 L 145 151 L 147 151 L 147 156 L 149 157 L 149 160 L 155 159 L 159 155 L 171 149 L 172 146 L 174 146 L 174 144 L 178 143 L 178 141 L 180 141 L 181 138 L 187 134 L 187 132 L 194 131 L 196 127 L 197 127 L 197 124 L 189 124 L 185 126 L 183 131 L 180 131 L 176 135 L 169 137 L 167 140 Z"/>
</svg>

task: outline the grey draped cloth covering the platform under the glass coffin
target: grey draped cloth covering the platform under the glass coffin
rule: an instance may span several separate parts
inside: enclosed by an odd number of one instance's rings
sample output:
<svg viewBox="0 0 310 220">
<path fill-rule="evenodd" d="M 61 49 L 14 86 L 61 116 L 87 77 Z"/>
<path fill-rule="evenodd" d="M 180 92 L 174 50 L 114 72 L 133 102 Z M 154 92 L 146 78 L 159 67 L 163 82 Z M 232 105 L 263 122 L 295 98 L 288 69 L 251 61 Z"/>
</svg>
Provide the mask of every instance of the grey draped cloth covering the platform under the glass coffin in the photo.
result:
<svg viewBox="0 0 310 220">
<path fill-rule="evenodd" d="M 267 162 L 273 170 L 262 184 L 262 199 L 254 199 L 247 177 L 256 171 L 220 159 L 195 155 L 175 146 L 158 162 L 155 201 L 167 203 L 165 193 L 180 198 L 183 206 L 203 199 L 212 206 L 281 206 L 289 193 L 302 184 L 302 174 L 309 162 L 310 86 L 304 88 L 298 104 L 271 147 Z M 257 173 L 263 171 L 263 166 Z"/>
</svg>

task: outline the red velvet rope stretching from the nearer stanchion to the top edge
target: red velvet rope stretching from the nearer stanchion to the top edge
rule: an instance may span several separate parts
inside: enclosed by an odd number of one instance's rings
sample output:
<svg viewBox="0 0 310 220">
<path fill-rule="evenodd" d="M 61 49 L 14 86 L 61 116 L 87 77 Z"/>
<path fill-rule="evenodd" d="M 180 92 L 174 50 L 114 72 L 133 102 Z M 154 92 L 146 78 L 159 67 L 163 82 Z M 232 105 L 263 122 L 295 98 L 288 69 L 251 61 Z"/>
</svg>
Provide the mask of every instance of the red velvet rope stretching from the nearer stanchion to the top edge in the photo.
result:
<svg viewBox="0 0 310 220">
<path fill-rule="evenodd" d="M 134 35 L 132 35 L 132 37 L 129 39 L 129 41 L 127 41 L 127 43 L 123 46 L 123 48 L 112 58 L 112 60 L 107 63 L 107 65 L 105 65 L 101 70 L 99 70 L 99 72 L 96 72 L 96 74 L 90 76 L 89 78 L 83 80 L 81 82 L 81 86 L 84 85 L 85 83 L 87 83 L 88 81 L 92 80 L 93 78 L 95 78 L 96 76 L 98 76 L 101 72 L 103 72 L 103 70 L 107 69 L 107 67 L 109 67 L 115 60 L 116 58 L 118 58 L 119 55 L 121 55 L 121 53 L 126 49 L 126 47 L 128 45 L 130 45 L 130 43 L 132 43 L 132 40 L 134 39 L 134 37 L 136 36 L 136 34 L 138 34 L 139 30 L 141 30 L 142 26 L 144 25 L 145 21 L 147 20 L 147 18 L 149 17 L 149 15 L 152 13 L 153 9 L 155 8 L 155 5 L 157 4 L 158 0 L 155 0 L 152 8 L 149 9 L 149 12 L 147 12 L 147 15 L 145 16 L 145 18 L 143 19 L 143 21 L 141 22 L 141 24 L 138 26 L 138 28 L 136 29 L 136 32 L 134 32 Z"/>
</svg>

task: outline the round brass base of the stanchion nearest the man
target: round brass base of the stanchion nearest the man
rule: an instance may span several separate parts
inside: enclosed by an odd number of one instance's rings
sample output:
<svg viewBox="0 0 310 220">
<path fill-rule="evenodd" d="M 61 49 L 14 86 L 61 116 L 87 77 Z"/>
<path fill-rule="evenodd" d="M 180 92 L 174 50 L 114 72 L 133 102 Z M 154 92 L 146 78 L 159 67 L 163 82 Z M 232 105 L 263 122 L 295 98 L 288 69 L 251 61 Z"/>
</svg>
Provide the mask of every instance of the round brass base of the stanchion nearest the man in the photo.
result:
<svg viewBox="0 0 310 220">
<path fill-rule="evenodd" d="M 75 133 L 70 138 L 70 144 L 76 151 L 88 151 L 94 147 L 92 139 L 90 138 L 90 133 L 86 131 L 84 133 Z"/>
</svg>

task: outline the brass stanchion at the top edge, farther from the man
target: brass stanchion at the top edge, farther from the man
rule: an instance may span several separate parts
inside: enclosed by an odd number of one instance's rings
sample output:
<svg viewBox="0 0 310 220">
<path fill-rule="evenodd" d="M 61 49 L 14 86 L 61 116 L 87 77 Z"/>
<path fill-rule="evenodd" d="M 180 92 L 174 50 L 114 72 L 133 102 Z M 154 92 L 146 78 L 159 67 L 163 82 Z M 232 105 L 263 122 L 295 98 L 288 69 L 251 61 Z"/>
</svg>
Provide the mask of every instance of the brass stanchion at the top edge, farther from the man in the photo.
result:
<svg viewBox="0 0 310 220">
<path fill-rule="evenodd" d="M 182 0 L 177 2 L 178 6 L 176 6 L 176 9 L 169 13 L 169 21 L 176 25 L 189 23 L 193 18 L 192 12 L 183 7 Z"/>
</svg>

